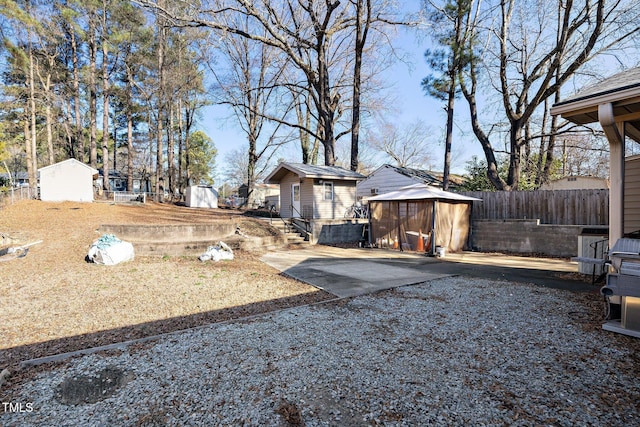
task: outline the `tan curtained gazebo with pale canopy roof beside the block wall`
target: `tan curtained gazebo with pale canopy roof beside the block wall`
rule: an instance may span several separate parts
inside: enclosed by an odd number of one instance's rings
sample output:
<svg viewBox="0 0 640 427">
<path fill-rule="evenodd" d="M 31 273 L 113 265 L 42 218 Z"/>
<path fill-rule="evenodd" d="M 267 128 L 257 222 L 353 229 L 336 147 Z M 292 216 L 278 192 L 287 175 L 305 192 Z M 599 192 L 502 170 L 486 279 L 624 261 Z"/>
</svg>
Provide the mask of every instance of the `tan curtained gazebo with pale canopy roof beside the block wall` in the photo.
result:
<svg viewBox="0 0 640 427">
<path fill-rule="evenodd" d="M 379 247 L 457 252 L 467 246 L 474 197 L 410 185 L 369 199 L 371 242 Z"/>
</svg>

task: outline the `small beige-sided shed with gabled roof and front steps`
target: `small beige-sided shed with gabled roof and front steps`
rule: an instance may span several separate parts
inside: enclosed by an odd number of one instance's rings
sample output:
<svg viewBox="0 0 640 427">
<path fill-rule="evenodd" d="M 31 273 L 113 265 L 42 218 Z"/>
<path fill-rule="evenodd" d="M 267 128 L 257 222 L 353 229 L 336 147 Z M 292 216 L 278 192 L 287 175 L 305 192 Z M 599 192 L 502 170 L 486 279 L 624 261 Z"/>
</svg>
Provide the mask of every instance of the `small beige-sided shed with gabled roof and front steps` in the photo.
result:
<svg viewBox="0 0 640 427">
<path fill-rule="evenodd" d="M 344 218 L 364 178 L 338 166 L 282 162 L 264 182 L 280 184 L 281 217 L 314 220 Z"/>
</svg>

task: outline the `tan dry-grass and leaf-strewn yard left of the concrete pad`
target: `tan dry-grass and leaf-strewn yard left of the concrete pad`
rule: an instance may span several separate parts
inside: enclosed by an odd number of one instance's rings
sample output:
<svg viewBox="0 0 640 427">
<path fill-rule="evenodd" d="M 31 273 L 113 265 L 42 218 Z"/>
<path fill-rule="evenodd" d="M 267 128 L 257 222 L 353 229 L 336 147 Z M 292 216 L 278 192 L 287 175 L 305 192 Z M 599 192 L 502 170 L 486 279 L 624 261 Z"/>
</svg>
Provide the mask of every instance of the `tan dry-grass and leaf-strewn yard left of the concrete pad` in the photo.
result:
<svg viewBox="0 0 640 427">
<path fill-rule="evenodd" d="M 253 236 L 275 231 L 237 211 L 169 204 L 22 201 L 0 209 L 0 237 L 42 240 L 24 258 L 0 262 L 0 370 L 19 361 L 175 331 L 331 298 L 261 263 L 259 252 L 201 262 L 136 257 L 85 262 L 101 224 L 233 220 Z M 0 244 L 2 240 L 0 240 Z M 0 257 L 0 261 L 2 261 Z"/>
</svg>

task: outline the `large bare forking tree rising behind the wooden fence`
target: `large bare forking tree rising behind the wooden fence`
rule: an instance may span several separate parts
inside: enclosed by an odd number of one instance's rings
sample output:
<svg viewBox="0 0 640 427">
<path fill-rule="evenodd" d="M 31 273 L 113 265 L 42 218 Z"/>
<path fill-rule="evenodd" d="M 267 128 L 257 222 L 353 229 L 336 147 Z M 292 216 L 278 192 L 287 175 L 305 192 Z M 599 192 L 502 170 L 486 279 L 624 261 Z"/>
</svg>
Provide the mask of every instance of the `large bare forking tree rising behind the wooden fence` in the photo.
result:
<svg viewBox="0 0 640 427">
<path fill-rule="evenodd" d="M 555 96 L 594 56 L 631 40 L 640 22 L 637 7 L 625 0 L 558 0 L 540 3 L 537 9 L 530 5 L 496 0 L 480 9 L 476 2 L 465 26 L 465 40 L 474 55 L 461 79 L 461 89 L 469 105 L 473 131 L 487 159 L 488 177 L 500 190 L 518 188 L 526 128 L 545 100 Z M 494 20 L 496 25 L 491 24 Z M 499 115 L 493 119 L 502 116 L 507 120 L 506 179 L 498 174 L 492 144 L 495 136 L 483 128 L 483 123 L 491 119 L 480 119 L 480 79 L 488 82 L 500 99 Z"/>
</svg>

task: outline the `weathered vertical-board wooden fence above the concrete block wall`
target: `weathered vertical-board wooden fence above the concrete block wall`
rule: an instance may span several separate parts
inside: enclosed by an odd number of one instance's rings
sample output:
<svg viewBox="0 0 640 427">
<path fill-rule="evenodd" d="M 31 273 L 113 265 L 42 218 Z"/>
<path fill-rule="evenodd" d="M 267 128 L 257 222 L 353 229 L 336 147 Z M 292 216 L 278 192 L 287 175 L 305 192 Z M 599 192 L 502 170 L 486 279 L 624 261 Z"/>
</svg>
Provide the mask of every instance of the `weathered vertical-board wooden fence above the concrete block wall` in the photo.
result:
<svg viewBox="0 0 640 427">
<path fill-rule="evenodd" d="M 464 191 L 472 220 L 539 219 L 541 224 L 608 225 L 609 190 Z"/>
</svg>

